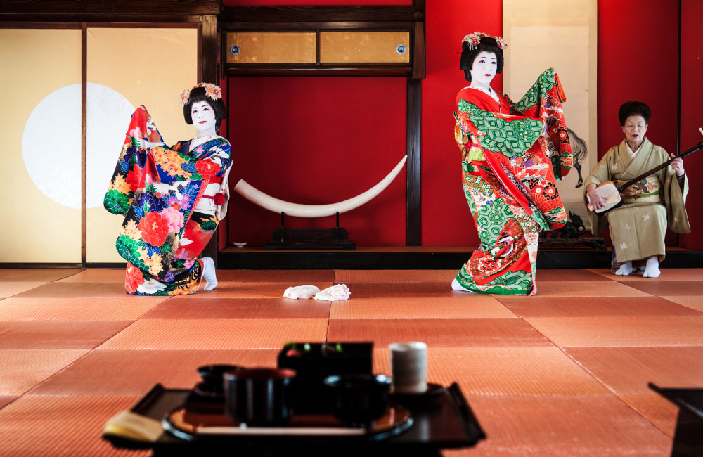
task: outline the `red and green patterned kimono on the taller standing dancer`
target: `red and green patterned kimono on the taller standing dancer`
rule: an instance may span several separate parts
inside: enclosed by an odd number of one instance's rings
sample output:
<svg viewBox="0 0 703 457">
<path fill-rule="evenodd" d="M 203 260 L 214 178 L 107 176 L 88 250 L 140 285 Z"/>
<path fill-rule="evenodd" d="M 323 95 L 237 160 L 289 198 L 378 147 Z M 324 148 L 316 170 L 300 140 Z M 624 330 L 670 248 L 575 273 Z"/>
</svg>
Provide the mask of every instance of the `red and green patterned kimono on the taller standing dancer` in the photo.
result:
<svg viewBox="0 0 703 457">
<path fill-rule="evenodd" d="M 547 70 L 517 103 L 470 88 L 457 98 L 454 136 L 481 245 L 456 279 L 475 292 L 533 295 L 538 234 L 567 222 L 555 185 L 572 167 L 559 79 Z"/>
</svg>

